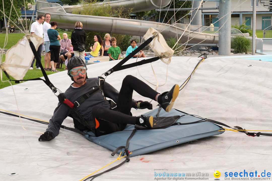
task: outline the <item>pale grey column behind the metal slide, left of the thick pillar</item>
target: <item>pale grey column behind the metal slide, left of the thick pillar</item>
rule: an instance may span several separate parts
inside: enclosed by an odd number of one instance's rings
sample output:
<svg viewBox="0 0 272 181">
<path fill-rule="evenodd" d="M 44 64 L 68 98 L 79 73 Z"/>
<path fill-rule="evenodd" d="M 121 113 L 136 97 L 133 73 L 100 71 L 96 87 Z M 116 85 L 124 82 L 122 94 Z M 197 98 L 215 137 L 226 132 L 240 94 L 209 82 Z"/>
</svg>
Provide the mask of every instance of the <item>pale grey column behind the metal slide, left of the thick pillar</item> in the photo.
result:
<svg viewBox="0 0 272 181">
<path fill-rule="evenodd" d="M 191 25 L 197 25 L 197 26 L 202 26 L 202 10 L 198 10 L 197 8 L 201 8 L 201 1 L 192 1 L 192 7 L 193 10 L 191 13 Z M 192 19 L 193 18 L 193 19 Z M 200 32 L 201 30 L 196 30 L 196 32 Z M 198 50 L 199 46 L 193 46 L 192 50 Z"/>
</svg>

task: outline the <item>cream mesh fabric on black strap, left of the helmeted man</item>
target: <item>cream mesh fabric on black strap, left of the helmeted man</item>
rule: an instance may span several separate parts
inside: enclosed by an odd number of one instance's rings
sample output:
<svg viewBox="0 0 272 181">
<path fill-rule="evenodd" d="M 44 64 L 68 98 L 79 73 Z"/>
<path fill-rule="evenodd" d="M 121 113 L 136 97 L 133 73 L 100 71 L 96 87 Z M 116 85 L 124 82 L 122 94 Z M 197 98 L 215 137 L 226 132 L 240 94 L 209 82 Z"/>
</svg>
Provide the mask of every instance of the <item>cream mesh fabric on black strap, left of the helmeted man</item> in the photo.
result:
<svg viewBox="0 0 272 181">
<path fill-rule="evenodd" d="M 24 78 L 34 58 L 28 39 L 31 40 L 36 50 L 44 41 L 43 38 L 35 34 L 25 35 L 7 51 L 5 62 L 0 66 L 15 80 Z"/>
</svg>

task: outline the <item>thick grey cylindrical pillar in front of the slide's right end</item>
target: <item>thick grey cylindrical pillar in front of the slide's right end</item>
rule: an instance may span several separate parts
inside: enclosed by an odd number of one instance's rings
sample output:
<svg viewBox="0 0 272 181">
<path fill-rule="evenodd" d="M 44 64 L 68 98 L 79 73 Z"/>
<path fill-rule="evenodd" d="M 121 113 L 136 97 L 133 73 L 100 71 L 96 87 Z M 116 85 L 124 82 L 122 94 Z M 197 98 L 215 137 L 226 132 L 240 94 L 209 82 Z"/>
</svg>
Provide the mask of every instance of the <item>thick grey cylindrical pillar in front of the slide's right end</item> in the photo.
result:
<svg viewBox="0 0 272 181">
<path fill-rule="evenodd" d="M 219 19 L 218 54 L 230 55 L 231 0 L 221 0 L 219 2 Z"/>
</svg>

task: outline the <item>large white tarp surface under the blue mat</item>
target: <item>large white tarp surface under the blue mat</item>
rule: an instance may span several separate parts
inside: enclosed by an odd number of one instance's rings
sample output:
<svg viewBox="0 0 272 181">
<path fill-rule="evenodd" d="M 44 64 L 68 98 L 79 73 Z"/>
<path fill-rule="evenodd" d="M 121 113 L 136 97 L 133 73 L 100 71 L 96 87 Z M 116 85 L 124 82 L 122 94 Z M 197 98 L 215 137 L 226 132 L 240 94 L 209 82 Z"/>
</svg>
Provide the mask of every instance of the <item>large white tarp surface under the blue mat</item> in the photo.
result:
<svg viewBox="0 0 272 181">
<path fill-rule="evenodd" d="M 167 82 L 158 88 L 158 92 L 170 90 L 175 83 L 181 85 L 198 60 L 199 58 L 172 57 L 168 65 Z M 132 61 L 135 59 L 129 62 Z M 116 63 L 117 61 L 111 61 L 88 65 L 88 77 L 100 76 Z M 163 84 L 167 65 L 161 61 L 152 65 L 159 84 Z M 156 85 L 150 64 L 138 68 L 144 78 Z M 271 62 L 208 58 L 200 64 L 186 87 L 180 91 L 174 108 L 230 126 L 272 130 L 271 71 Z M 129 68 L 113 73 L 106 81 L 120 90 L 122 80 L 128 74 L 143 80 L 137 73 L 137 68 Z M 49 75 L 49 79 L 63 92 L 72 83 L 67 71 Z M 153 85 L 151 87 L 155 88 Z M 13 88 L 20 114 L 47 121 L 51 118 L 58 99 L 44 82 L 28 81 Z M 137 93 L 133 97 L 136 100 L 150 101 Z M 0 100 L 0 109 L 18 112 L 12 87 L 0 90 Z M 152 103 L 156 107 L 157 104 L 154 101 Z M 133 115 L 144 112 L 148 110 L 132 109 Z M 47 128 L 47 125 L 26 119 L 22 119 L 22 123 L 30 131 L 44 132 Z M 72 127 L 72 119 L 65 119 L 63 125 Z M 80 180 L 116 159 L 116 156 L 110 155 L 111 151 L 75 132 L 61 129 L 60 134 L 51 141 L 38 141 L 39 136 L 38 133 L 23 130 L 18 118 L 0 113 L 0 180 Z M 130 162 L 94 180 L 214 180 L 213 173 L 216 170 L 221 172 L 220 180 L 234 178 L 225 177 L 225 172 L 243 172 L 242 176 L 247 172 L 248 177 L 250 172 L 254 172 L 254 177 L 249 177 L 249 180 L 271 180 L 271 177 L 267 177 L 267 173 L 272 172 L 271 145 L 272 137 L 269 136 L 251 137 L 244 133 L 226 131 L 221 135 L 132 157 Z M 109 167 L 121 161 L 116 161 Z M 18 174 L 8 175 L 14 172 Z M 191 174 L 159 177 L 154 176 L 154 172 L 195 173 L 200 176 Z M 262 172 L 265 172 L 266 177 L 262 177 Z M 238 175 L 235 178 L 242 177 Z"/>
</svg>

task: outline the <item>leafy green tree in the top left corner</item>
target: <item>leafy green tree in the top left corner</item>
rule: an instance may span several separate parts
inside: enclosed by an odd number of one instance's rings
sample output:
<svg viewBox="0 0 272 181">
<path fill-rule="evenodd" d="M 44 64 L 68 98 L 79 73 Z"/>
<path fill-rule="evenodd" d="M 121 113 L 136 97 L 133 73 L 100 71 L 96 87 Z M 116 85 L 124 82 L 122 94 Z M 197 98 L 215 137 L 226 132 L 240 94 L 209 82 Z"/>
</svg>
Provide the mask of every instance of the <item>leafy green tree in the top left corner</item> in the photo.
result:
<svg viewBox="0 0 272 181">
<path fill-rule="evenodd" d="M 4 20 L 4 14 L 3 14 L 4 9 L 3 8 L 5 8 L 5 14 L 6 14 L 5 18 L 6 18 L 6 20 L 8 21 L 7 17 L 10 16 L 10 19 L 12 21 L 16 21 L 21 16 L 21 10 L 20 10 L 20 8 L 24 4 L 27 5 L 28 3 L 31 3 L 31 4 L 35 3 L 34 0 L 26 0 L 26 1 L 24 1 L 24 0 L 13 0 L 12 2 L 13 2 L 12 4 L 13 4 L 14 7 L 12 6 L 10 0 L 5 0 L 4 4 L 2 4 L 2 2 L 0 3 L 0 10 L 1 10 L 0 11 L 0 20 Z M 11 14 L 10 14 L 10 9 L 12 9 L 11 10 Z M 17 14 L 18 14 L 19 17 L 17 16 L 16 12 L 17 12 Z"/>
</svg>

